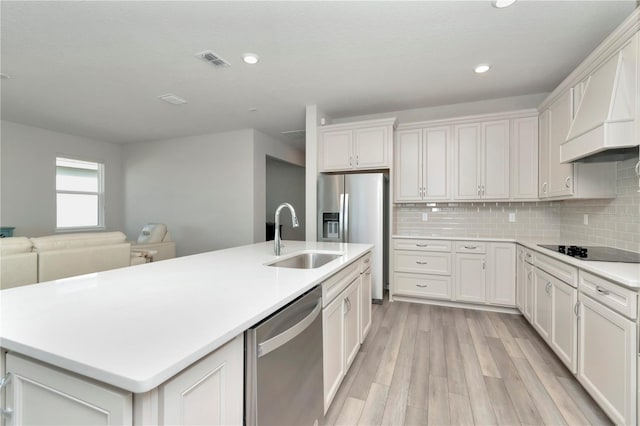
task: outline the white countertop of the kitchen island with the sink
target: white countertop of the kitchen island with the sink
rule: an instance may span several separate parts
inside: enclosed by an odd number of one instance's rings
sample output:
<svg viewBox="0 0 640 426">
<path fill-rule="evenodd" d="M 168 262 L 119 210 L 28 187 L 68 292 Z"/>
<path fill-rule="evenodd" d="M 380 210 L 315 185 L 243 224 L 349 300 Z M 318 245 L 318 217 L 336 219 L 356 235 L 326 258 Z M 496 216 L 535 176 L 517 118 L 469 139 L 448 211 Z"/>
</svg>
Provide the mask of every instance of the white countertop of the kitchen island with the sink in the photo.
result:
<svg viewBox="0 0 640 426">
<path fill-rule="evenodd" d="M 0 291 L 0 347 L 142 393 L 213 352 L 371 249 L 316 269 L 266 266 L 273 241 Z"/>
</svg>

